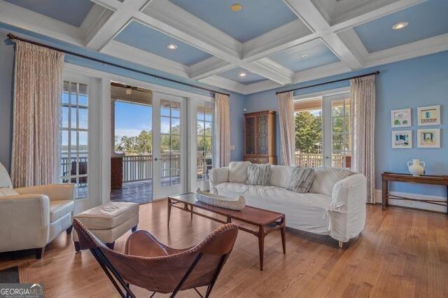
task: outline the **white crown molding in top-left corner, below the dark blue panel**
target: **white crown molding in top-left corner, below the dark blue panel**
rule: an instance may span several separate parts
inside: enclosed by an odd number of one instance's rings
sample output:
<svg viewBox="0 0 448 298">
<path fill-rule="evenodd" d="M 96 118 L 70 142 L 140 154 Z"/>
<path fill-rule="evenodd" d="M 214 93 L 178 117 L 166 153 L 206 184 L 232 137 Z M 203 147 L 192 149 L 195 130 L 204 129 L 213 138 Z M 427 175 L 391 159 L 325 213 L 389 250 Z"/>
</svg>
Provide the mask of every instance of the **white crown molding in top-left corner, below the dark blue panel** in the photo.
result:
<svg viewBox="0 0 448 298">
<path fill-rule="evenodd" d="M 0 22 L 38 34 L 84 46 L 84 33 L 79 27 L 35 13 L 3 0 L 0 0 Z"/>
</svg>

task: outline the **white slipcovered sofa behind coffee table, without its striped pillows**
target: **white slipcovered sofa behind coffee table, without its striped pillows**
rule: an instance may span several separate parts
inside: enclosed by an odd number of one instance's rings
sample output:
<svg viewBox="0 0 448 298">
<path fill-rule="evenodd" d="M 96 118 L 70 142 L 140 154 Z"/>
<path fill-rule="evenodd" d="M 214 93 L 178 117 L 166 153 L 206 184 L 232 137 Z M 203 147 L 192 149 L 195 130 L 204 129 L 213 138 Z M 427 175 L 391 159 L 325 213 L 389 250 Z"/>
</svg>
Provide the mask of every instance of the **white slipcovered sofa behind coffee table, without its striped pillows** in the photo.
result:
<svg viewBox="0 0 448 298">
<path fill-rule="evenodd" d="M 330 235 L 342 243 L 358 236 L 365 225 L 367 180 L 346 169 L 319 167 L 308 193 L 287 190 L 294 166 L 271 166 L 269 185 L 246 185 L 248 162 L 212 169 L 210 192 L 246 199 L 248 206 L 286 215 L 286 226 Z"/>
</svg>

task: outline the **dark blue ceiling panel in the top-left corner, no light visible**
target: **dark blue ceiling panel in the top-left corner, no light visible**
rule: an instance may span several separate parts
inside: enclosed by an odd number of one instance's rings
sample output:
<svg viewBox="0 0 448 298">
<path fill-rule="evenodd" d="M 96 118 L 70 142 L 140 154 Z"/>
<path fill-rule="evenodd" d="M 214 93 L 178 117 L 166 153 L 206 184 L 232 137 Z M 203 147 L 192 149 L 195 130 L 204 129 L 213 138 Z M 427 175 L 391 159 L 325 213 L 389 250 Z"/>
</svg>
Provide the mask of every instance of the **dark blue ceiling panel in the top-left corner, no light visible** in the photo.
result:
<svg viewBox="0 0 448 298">
<path fill-rule="evenodd" d="M 6 0 L 22 8 L 79 27 L 89 13 L 90 0 Z"/>
</svg>

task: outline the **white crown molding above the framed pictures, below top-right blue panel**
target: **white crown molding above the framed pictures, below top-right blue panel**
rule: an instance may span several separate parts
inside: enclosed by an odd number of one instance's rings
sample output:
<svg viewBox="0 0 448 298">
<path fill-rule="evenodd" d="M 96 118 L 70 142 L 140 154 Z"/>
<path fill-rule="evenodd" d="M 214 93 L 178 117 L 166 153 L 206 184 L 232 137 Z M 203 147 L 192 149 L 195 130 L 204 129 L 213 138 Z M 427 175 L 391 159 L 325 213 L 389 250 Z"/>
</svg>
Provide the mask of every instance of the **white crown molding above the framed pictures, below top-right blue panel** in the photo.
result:
<svg viewBox="0 0 448 298">
<path fill-rule="evenodd" d="M 414 41 L 395 48 L 388 48 L 367 55 L 366 67 L 398 62 L 405 59 L 434 54 L 448 50 L 448 34 Z"/>
</svg>

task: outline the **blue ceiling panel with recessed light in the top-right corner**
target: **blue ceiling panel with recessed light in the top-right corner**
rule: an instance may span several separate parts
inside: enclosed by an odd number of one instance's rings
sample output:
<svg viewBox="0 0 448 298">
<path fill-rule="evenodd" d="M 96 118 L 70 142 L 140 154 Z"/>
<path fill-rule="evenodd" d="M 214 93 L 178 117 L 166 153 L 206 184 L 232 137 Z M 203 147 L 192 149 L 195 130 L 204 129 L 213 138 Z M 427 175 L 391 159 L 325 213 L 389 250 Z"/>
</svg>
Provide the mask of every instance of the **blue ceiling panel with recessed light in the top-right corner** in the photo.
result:
<svg viewBox="0 0 448 298">
<path fill-rule="evenodd" d="M 399 22 L 407 27 L 393 30 Z M 428 0 L 354 28 L 368 52 L 448 33 L 448 0 Z"/>
</svg>

